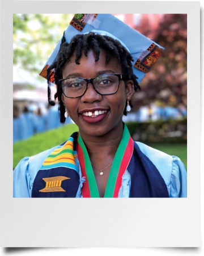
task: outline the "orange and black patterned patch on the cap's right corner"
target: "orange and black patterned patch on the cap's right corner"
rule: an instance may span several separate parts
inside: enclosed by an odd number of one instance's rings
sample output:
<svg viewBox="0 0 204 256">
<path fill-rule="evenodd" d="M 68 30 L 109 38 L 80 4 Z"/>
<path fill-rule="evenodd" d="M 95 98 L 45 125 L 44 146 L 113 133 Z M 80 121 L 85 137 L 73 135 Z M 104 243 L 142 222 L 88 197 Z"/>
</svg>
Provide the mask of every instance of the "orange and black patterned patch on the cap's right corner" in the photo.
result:
<svg viewBox="0 0 204 256">
<path fill-rule="evenodd" d="M 152 43 L 150 47 L 138 58 L 134 67 L 141 70 L 144 73 L 150 71 L 150 68 L 158 60 L 162 54 L 163 49 Z"/>
</svg>

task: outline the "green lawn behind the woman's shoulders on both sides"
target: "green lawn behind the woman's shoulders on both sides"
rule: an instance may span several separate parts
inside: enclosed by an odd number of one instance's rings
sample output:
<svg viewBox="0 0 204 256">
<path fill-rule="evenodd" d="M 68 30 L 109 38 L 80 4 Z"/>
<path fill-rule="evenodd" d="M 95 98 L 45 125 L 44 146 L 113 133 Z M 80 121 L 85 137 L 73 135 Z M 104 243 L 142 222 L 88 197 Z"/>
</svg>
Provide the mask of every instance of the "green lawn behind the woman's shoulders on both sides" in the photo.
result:
<svg viewBox="0 0 204 256">
<path fill-rule="evenodd" d="M 38 133 L 28 140 L 16 142 L 13 148 L 13 167 L 15 168 L 23 157 L 34 156 L 46 149 L 62 144 L 75 131 L 78 131 L 76 124 L 66 124 L 57 129 Z M 180 157 L 181 161 L 187 167 L 186 144 L 151 144 L 151 146 L 167 154 Z"/>
</svg>

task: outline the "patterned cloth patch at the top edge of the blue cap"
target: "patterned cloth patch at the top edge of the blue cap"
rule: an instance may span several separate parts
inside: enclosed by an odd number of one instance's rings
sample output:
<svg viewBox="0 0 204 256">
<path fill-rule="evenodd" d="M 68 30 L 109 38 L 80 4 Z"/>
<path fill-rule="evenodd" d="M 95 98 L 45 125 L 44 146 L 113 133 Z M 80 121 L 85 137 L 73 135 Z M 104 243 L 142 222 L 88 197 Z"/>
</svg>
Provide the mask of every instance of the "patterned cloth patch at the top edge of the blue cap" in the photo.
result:
<svg viewBox="0 0 204 256">
<path fill-rule="evenodd" d="M 86 26 L 89 19 L 95 19 L 97 14 L 75 14 L 71 20 L 70 25 L 80 32 Z"/>
</svg>

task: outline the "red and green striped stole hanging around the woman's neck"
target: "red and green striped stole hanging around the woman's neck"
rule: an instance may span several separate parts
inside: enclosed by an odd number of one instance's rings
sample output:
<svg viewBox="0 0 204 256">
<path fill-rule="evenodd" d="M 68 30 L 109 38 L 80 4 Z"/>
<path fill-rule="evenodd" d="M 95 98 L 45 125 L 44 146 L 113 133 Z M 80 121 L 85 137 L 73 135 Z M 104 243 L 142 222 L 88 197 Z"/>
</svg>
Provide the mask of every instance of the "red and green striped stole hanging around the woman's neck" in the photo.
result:
<svg viewBox="0 0 204 256">
<path fill-rule="evenodd" d="M 126 125 L 124 125 L 124 132 L 122 140 L 118 146 L 116 155 L 114 157 L 111 171 L 108 177 L 107 187 L 105 189 L 104 198 L 117 198 L 118 192 L 122 185 L 122 176 L 124 175 L 131 156 L 133 154 L 134 141 L 130 137 L 130 133 Z M 97 189 L 94 171 L 92 169 L 91 161 L 82 137 L 78 137 L 77 145 L 78 159 L 82 169 L 82 176 L 86 181 L 83 183 L 82 196 L 83 198 L 99 198 L 99 191 Z"/>
</svg>

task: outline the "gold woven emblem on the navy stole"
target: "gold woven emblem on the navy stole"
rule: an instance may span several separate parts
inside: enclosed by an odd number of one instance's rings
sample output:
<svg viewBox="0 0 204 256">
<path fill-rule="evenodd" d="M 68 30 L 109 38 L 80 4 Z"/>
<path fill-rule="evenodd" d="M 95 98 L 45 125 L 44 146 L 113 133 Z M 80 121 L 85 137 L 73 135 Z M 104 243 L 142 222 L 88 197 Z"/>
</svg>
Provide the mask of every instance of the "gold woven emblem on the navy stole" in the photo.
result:
<svg viewBox="0 0 204 256">
<path fill-rule="evenodd" d="M 45 188 L 39 190 L 39 192 L 65 192 L 61 187 L 62 181 L 65 179 L 70 179 L 64 176 L 50 177 L 50 178 L 42 178 L 45 181 Z"/>
</svg>

